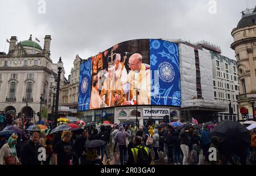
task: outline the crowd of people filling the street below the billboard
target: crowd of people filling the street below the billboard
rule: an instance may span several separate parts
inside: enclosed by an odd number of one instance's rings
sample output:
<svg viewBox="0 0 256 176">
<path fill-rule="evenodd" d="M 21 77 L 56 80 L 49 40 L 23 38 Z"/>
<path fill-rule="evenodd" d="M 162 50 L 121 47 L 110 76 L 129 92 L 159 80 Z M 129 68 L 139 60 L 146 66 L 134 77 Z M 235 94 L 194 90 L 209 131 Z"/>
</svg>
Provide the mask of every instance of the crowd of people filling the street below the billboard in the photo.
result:
<svg viewBox="0 0 256 176">
<path fill-rule="evenodd" d="M 15 122 L 2 126 L 1 122 L 1 128 L 14 125 L 13 123 Z M 17 124 L 16 126 L 18 127 Z M 166 164 L 175 165 L 217 165 L 227 164 L 228 161 L 231 164 L 246 164 L 246 158 L 255 152 L 256 147 L 254 129 L 250 131 L 250 147 L 242 155 L 232 156 L 230 161 L 229 156 L 225 156 L 218 148 L 220 138 L 210 137 L 211 128 L 207 125 L 196 128 L 189 124 L 170 126 L 163 123 L 137 127 L 135 124 L 125 123 L 112 126 L 93 123 L 82 126 L 79 131 L 65 130 L 54 134 L 50 134 L 50 125 L 47 131 L 20 129 L 24 131 L 22 135 L 16 133 L 1 136 L 0 165 L 102 165 L 112 161 L 110 152 L 115 155 L 118 151 L 121 165 L 154 164 L 159 161 L 160 155 L 165 156 Z M 104 141 L 104 144 L 86 147 L 90 141 L 96 140 Z M 211 147 L 216 148 L 217 160 L 209 160 Z M 46 151 L 46 157 L 42 160 L 40 151 Z"/>
</svg>

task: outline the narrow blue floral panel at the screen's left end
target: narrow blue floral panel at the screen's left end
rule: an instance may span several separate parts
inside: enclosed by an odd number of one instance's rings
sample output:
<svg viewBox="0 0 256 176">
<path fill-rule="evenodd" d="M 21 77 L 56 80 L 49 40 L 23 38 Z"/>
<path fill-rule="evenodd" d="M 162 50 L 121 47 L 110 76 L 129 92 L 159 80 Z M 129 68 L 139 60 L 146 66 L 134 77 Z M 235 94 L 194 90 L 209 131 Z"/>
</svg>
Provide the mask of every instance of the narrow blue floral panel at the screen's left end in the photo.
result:
<svg viewBox="0 0 256 176">
<path fill-rule="evenodd" d="M 78 110 L 90 109 L 91 65 L 92 60 L 89 59 L 80 66 Z"/>
</svg>

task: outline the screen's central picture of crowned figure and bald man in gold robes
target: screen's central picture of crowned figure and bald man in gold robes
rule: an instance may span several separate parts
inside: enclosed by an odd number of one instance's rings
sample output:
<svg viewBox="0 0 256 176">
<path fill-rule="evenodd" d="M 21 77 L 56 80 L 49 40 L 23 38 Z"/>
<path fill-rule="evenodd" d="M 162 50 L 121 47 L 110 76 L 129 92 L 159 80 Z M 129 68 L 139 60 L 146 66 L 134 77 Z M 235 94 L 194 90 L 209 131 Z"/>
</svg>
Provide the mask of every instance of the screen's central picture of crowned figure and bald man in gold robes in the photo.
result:
<svg viewBox="0 0 256 176">
<path fill-rule="evenodd" d="M 131 40 L 103 53 L 102 65 L 92 61 L 90 109 L 150 104 L 151 80 L 148 40 Z M 99 54 L 100 55 L 100 54 Z M 138 89 L 138 100 L 136 90 Z"/>
</svg>

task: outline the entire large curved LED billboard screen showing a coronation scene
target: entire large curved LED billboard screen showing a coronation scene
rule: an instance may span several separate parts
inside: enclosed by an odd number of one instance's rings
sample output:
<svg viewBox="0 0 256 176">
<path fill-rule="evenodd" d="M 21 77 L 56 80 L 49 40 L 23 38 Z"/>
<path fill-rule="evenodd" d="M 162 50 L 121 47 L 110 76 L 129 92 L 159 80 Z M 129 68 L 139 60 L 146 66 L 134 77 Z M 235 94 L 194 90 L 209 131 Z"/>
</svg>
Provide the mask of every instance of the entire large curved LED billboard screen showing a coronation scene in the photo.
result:
<svg viewBox="0 0 256 176">
<path fill-rule="evenodd" d="M 156 39 L 125 41 L 81 63 L 78 110 L 180 106 L 179 49 Z"/>
</svg>

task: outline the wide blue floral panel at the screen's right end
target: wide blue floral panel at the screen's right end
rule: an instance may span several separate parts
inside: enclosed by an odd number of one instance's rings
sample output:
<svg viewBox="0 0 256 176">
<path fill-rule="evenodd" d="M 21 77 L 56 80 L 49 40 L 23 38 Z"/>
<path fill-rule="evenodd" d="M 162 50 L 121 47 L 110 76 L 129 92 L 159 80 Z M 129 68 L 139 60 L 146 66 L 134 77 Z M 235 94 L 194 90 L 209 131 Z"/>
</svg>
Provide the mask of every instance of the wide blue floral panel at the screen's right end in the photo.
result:
<svg viewBox="0 0 256 176">
<path fill-rule="evenodd" d="M 179 48 L 164 40 L 150 40 L 151 104 L 181 106 Z M 155 79 L 154 74 L 158 74 Z"/>
</svg>

